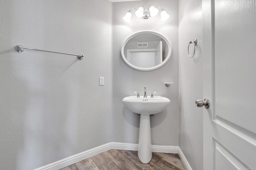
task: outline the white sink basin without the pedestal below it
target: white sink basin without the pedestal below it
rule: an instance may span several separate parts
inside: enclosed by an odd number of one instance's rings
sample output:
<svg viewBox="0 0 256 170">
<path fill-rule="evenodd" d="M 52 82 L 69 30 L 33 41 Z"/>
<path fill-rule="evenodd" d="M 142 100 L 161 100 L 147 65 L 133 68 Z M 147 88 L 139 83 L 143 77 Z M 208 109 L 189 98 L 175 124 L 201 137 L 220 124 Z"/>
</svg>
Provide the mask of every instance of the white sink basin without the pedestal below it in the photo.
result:
<svg viewBox="0 0 256 170">
<path fill-rule="evenodd" d="M 136 96 L 128 96 L 122 101 L 127 109 L 143 115 L 159 113 L 166 109 L 168 104 L 170 104 L 170 100 L 162 96 L 154 96 L 154 98 L 150 98 L 150 96 L 147 97 L 148 98 L 137 98 Z"/>
</svg>

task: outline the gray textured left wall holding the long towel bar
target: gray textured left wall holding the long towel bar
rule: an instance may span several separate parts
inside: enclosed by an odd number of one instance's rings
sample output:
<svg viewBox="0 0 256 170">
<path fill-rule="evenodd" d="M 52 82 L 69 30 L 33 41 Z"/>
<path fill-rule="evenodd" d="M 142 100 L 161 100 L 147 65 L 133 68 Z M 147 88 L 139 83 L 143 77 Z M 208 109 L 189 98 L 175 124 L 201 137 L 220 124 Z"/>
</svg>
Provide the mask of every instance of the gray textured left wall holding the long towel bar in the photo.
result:
<svg viewBox="0 0 256 170">
<path fill-rule="evenodd" d="M 2 0 L 0 23 L 0 169 L 34 169 L 111 142 L 112 3 Z"/>
</svg>

